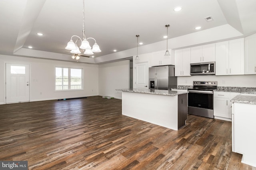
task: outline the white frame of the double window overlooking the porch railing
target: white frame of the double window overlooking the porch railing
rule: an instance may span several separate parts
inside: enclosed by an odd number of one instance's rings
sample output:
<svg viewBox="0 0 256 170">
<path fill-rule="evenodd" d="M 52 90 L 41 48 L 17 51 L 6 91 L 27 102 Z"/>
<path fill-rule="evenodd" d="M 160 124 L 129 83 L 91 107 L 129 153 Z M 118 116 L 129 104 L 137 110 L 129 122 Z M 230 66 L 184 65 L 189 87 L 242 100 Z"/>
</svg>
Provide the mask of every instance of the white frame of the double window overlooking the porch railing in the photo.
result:
<svg viewBox="0 0 256 170">
<path fill-rule="evenodd" d="M 61 80 L 62 80 L 62 84 L 61 84 L 61 86 L 62 86 L 62 89 L 61 90 L 57 90 L 56 89 L 56 68 L 61 68 L 62 69 L 62 78 L 61 78 Z M 66 79 L 66 78 L 64 78 L 64 68 L 67 68 L 68 69 L 68 89 L 63 89 L 63 87 L 64 86 L 66 86 L 66 85 L 64 85 L 64 79 Z M 81 79 L 79 79 L 79 80 L 81 80 L 81 88 L 79 88 L 79 89 L 71 89 L 71 69 L 80 69 L 81 70 Z M 58 78 L 58 79 L 60 79 L 60 78 Z M 55 66 L 55 87 L 54 87 L 54 89 L 55 89 L 55 92 L 66 92 L 66 91 L 80 91 L 80 90 L 84 90 L 84 69 L 83 68 L 73 68 L 73 67 L 63 67 L 63 66 Z"/>
</svg>

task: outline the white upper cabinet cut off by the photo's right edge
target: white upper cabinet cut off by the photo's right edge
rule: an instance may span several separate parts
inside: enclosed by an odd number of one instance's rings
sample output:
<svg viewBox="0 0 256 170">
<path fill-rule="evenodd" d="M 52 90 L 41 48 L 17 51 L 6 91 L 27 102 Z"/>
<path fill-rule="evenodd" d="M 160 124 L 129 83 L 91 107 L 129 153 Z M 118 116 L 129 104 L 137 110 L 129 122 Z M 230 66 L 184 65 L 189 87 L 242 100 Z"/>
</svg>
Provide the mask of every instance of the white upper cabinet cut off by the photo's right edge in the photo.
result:
<svg viewBox="0 0 256 170">
<path fill-rule="evenodd" d="M 256 74 L 256 34 L 244 39 L 244 74 Z"/>
</svg>

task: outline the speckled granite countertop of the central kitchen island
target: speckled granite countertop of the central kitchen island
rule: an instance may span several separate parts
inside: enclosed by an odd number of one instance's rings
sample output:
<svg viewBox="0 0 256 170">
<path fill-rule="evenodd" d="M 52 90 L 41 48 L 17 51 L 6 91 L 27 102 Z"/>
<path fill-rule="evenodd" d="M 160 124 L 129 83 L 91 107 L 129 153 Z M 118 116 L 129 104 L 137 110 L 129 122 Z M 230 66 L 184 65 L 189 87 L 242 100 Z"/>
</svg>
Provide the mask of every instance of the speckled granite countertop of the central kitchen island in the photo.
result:
<svg viewBox="0 0 256 170">
<path fill-rule="evenodd" d="M 156 89 L 116 89 L 122 92 L 134 92 L 134 93 L 144 93 L 144 94 L 158 94 L 158 95 L 165 95 L 165 96 L 176 96 L 179 94 L 186 94 L 188 92 L 184 91 L 175 91 L 175 90 L 156 90 Z"/>
</svg>

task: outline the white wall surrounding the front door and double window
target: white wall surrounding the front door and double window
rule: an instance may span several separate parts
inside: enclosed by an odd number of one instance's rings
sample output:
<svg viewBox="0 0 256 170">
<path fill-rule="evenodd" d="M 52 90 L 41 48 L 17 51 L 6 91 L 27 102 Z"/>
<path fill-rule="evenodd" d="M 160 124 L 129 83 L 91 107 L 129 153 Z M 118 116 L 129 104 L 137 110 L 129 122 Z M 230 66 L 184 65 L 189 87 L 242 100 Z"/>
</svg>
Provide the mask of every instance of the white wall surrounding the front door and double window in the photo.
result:
<svg viewBox="0 0 256 170">
<path fill-rule="evenodd" d="M 5 63 L 30 65 L 30 101 L 98 96 L 98 65 L 0 55 L 0 104 L 5 103 Z M 56 92 L 55 67 L 84 69 L 84 90 Z M 40 94 L 42 93 L 42 94 Z"/>
</svg>

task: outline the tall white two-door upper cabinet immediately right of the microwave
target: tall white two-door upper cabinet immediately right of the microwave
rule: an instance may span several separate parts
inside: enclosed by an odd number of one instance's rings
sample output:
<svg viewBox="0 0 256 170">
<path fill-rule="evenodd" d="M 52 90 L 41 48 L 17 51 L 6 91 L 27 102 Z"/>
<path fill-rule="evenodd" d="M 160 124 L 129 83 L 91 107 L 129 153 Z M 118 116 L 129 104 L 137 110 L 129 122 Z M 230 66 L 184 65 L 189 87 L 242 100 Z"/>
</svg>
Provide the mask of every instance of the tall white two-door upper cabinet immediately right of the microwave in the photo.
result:
<svg viewBox="0 0 256 170">
<path fill-rule="evenodd" d="M 216 43 L 216 75 L 244 74 L 244 38 Z"/>
</svg>

